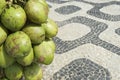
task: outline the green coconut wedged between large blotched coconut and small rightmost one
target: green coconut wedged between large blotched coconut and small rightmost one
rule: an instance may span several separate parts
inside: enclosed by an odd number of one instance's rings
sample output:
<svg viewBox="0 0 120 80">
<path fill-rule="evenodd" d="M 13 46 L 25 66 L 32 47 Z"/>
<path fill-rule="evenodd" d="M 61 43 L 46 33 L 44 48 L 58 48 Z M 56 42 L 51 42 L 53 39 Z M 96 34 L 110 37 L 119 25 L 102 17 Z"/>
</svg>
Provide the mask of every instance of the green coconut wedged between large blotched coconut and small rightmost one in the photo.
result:
<svg viewBox="0 0 120 80">
<path fill-rule="evenodd" d="M 45 30 L 40 25 L 28 24 L 22 31 L 30 37 L 32 44 L 39 44 L 45 39 Z"/>
</svg>

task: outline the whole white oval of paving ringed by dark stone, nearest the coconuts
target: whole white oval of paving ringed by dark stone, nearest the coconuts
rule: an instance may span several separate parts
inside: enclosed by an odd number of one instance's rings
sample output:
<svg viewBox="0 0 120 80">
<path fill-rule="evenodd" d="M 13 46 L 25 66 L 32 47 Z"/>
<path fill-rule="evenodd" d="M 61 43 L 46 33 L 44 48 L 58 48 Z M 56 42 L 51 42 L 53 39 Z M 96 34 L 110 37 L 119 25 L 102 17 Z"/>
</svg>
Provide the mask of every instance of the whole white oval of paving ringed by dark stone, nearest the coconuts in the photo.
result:
<svg viewBox="0 0 120 80">
<path fill-rule="evenodd" d="M 90 28 L 83 24 L 71 23 L 59 28 L 57 36 L 62 40 L 75 40 L 85 36 Z"/>
</svg>

